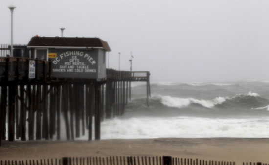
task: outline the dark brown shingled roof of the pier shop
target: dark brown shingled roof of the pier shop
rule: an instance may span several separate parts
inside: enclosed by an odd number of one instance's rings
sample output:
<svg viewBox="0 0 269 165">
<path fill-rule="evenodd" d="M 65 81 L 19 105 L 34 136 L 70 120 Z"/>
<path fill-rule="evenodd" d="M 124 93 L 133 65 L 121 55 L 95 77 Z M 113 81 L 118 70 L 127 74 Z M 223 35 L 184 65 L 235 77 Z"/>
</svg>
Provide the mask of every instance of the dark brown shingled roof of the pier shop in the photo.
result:
<svg viewBox="0 0 269 165">
<path fill-rule="evenodd" d="M 27 47 L 103 48 L 110 51 L 108 42 L 84 37 L 32 37 Z"/>
</svg>

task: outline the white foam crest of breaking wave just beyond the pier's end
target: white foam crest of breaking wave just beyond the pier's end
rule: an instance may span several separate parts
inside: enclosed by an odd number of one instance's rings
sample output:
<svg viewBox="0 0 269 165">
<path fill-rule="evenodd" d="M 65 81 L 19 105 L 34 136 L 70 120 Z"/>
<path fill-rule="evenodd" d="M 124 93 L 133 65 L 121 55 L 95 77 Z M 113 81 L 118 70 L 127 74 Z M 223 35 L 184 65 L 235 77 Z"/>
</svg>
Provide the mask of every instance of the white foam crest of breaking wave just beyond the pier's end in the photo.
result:
<svg viewBox="0 0 269 165">
<path fill-rule="evenodd" d="M 215 105 L 221 104 L 226 101 L 226 98 L 224 97 L 216 97 L 211 100 L 202 100 L 202 99 L 199 100 L 199 99 L 194 99 L 194 98 L 177 98 L 177 97 L 162 96 L 162 95 L 156 95 L 153 97 L 160 99 L 161 103 L 166 106 L 177 107 L 177 108 L 188 106 L 191 103 L 197 103 L 204 107 L 212 108 Z"/>
</svg>

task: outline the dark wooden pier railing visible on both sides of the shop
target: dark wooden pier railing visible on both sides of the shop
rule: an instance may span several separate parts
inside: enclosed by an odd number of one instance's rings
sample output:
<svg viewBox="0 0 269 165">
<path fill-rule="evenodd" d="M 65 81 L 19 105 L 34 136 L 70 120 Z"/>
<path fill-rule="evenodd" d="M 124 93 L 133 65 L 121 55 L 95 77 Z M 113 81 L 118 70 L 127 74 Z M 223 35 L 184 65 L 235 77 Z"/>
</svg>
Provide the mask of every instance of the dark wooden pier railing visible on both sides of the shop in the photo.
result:
<svg viewBox="0 0 269 165">
<path fill-rule="evenodd" d="M 29 65 L 35 63 L 35 78 L 29 78 Z M 50 62 L 45 60 L 0 57 L 0 83 L 6 81 L 54 80 L 50 77 Z M 126 81 L 148 81 L 148 71 L 118 71 L 106 69 L 106 79 Z"/>
</svg>

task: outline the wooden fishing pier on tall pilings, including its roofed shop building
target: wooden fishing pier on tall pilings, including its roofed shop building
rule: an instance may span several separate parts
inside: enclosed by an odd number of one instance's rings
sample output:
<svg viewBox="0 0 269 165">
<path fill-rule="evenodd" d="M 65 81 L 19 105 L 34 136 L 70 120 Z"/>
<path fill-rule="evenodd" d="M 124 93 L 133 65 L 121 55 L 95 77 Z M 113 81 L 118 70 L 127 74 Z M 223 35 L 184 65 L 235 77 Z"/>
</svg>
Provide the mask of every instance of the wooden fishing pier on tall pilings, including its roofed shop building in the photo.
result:
<svg viewBox="0 0 269 165">
<path fill-rule="evenodd" d="M 99 38 L 35 36 L 14 46 L 14 57 L 0 57 L 0 144 L 60 140 L 63 131 L 67 140 L 86 131 L 99 140 L 101 121 L 124 114 L 134 81 L 146 82 L 148 104 L 150 73 L 107 69 L 107 51 Z"/>
</svg>

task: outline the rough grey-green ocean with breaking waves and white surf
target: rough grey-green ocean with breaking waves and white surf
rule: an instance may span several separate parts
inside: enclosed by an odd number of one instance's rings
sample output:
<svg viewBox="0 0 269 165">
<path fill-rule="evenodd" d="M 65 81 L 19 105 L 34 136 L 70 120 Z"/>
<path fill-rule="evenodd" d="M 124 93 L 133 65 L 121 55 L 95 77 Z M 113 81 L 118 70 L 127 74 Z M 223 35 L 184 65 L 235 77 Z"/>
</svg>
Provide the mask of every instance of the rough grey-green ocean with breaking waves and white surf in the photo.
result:
<svg viewBox="0 0 269 165">
<path fill-rule="evenodd" d="M 269 82 L 132 83 L 123 116 L 101 123 L 101 139 L 269 138 Z M 79 139 L 87 139 L 87 135 Z"/>
</svg>

